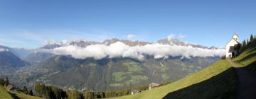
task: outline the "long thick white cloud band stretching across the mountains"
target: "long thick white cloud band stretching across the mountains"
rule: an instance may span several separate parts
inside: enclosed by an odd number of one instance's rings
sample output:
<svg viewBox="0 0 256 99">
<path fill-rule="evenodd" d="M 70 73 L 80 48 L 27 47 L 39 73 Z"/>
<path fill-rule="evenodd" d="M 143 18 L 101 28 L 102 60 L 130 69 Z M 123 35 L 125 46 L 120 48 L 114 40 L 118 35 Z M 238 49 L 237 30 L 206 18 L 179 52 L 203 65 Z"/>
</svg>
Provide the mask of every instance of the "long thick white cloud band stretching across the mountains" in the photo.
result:
<svg viewBox="0 0 256 99">
<path fill-rule="evenodd" d="M 208 50 L 198 47 L 186 47 L 177 45 L 161 45 L 159 43 L 130 47 L 122 42 L 115 42 L 111 45 L 89 45 L 78 47 L 68 45 L 50 50 L 53 54 L 71 55 L 76 59 L 93 57 L 102 59 L 104 57 L 131 57 L 134 59 L 144 59 L 144 55 L 151 55 L 159 59 L 163 57 L 215 57 L 223 56 L 225 50 Z"/>
</svg>

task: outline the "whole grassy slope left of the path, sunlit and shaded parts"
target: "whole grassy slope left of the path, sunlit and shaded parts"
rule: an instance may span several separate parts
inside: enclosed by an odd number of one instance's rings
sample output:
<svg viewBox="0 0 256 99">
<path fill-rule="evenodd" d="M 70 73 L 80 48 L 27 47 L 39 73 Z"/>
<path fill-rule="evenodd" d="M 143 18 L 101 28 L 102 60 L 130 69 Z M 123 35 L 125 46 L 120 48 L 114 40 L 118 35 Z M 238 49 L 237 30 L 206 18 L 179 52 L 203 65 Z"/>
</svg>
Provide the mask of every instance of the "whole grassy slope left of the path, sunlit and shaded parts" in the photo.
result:
<svg viewBox="0 0 256 99">
<path fill-rule="evenodd" d="M 206 69 L 174 83 L 119 98 L 233 98 L 238 84 L 236 79 L 235 69 L 226 60 L 218 60 Z M 178 93 L 170 93 L 174 91 Z"/>
</svg>

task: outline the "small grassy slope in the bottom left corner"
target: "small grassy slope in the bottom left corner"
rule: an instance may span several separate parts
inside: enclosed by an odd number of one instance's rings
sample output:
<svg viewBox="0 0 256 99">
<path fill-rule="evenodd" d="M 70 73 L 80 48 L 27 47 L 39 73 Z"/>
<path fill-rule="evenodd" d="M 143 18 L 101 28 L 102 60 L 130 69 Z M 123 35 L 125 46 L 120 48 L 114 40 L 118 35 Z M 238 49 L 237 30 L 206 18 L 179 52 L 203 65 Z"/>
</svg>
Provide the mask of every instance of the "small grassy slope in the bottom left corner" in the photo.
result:
<svg viewBox="0 0 256 99">
<path fill-rule="evenodd" d="M 20 98 L 20 99 L 42 99 L 31 95 L 26 95 L 21 92 L 17 93 L 9 93 L 4 89 L 4 86 L 0 86 L 0 99 L 13 99 L 13 98 Z"/>
</svg>

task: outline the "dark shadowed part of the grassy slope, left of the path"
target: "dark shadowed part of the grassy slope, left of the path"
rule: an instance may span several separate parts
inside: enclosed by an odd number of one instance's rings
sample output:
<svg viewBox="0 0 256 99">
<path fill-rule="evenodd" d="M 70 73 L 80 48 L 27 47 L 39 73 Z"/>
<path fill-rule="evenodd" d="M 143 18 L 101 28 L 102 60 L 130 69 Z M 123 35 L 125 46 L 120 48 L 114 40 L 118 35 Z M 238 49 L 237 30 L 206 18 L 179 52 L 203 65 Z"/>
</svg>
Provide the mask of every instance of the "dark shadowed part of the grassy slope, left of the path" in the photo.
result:
<svg viewBox="0 0 256 99">
<path fill-rule="evenodd" d="M 205 81 L 168 93 L 164 99 L 233 99 L 236 97 L 237 86 L 238 76 L 235 73 L 235 68 L 229 68 Z"/>
</svg>

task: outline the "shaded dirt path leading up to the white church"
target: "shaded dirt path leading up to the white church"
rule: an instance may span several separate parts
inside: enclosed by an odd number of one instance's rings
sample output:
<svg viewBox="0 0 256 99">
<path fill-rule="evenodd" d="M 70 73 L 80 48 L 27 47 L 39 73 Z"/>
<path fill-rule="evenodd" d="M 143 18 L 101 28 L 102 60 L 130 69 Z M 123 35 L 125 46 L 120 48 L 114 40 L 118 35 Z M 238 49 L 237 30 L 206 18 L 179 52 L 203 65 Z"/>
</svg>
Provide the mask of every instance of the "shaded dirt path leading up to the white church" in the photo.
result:
<svg viewBox="0 0 256 99">
<path fill-rule="evenodd" d="M 256 74 L 245 67 L 239 67 L 230 59 L 228 62 L 235 67 L 238 74 L 238 99 L 256 99 Z"/>
</svg>

